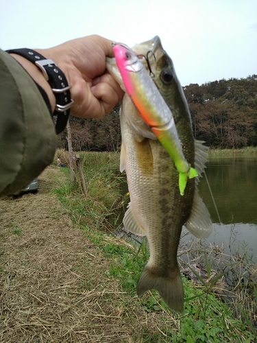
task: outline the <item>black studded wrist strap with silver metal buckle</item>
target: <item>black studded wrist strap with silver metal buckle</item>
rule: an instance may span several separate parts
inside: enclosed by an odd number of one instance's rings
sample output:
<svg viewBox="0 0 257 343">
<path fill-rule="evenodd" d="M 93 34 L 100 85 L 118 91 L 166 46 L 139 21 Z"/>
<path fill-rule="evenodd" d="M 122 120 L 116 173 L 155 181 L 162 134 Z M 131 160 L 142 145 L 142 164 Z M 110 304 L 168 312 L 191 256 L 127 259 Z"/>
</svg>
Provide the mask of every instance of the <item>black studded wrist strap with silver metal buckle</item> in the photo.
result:
<svg viewBox="0 0 257 343">
<path fill-rule="evenodd" d="M 71 99 L 71 86 L 69 86 L 64 73 L 58 68 L 52 60 L 49 60 L 38 54 L 32 49 L 12 49 L 7 50 L 9 54 L 20 55 L 36 66 L 42 71 L 45 80 L 49 82 L 54 95 L 56 96 L 56 108 L 53 115 L 57 115 L 56 133 L 60 133 L 66 127 L 69 119 L 70 108 L 73 105 Z"/>
</svg>

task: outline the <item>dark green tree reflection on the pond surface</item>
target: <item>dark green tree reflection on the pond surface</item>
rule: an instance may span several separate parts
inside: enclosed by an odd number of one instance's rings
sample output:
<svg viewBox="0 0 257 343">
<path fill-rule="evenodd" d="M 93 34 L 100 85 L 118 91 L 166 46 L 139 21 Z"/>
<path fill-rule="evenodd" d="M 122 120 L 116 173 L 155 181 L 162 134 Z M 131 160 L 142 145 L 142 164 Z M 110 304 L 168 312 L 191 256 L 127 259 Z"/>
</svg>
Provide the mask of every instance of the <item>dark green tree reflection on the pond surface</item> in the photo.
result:
<svg viewBox="0 0 257 343">
<path fill-rule="evenodd" d="M 257 158 L 211 159 L 206 175 L 223 224 L 257 224 Z M 212 222 L 219 222 L 205 177 L 198 188 Z"/>
</svg>

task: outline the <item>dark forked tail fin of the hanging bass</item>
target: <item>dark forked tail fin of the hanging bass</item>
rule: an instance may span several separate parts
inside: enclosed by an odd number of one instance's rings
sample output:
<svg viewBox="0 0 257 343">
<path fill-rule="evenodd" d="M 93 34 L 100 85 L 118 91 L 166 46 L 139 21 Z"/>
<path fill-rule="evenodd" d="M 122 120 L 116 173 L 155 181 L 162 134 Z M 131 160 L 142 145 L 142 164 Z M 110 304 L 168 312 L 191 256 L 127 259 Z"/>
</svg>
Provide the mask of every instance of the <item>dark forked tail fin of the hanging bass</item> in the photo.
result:
<svg viewBox="0 0 257 343">
<path fill-rule="evenodd" d="M 150 289 L 156 289 L 164 303 L 173 311 L 182 313 L 184 309 L 184 289 L 179 268 L 173 270 L 172 278 L 164 278 L 151 273 L 150 268 L 145 266 L 136 287 L 138 296 L 142 296 Z"/>
</svg>

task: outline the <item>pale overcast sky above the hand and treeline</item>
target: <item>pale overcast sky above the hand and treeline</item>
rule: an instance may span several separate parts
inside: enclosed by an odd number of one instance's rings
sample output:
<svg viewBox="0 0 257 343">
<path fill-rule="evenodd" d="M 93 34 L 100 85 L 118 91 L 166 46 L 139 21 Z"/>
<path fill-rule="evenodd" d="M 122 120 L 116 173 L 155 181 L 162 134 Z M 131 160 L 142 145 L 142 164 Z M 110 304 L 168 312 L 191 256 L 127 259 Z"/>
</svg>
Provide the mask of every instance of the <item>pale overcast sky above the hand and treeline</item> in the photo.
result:
<svg viewBox="0 0 257 343">
<path fill-rule="evenodd" d="M 0 47 L 160 36 L 182 86 L 257 74 L 257 0 L 0 0 Z"/>
</svg>

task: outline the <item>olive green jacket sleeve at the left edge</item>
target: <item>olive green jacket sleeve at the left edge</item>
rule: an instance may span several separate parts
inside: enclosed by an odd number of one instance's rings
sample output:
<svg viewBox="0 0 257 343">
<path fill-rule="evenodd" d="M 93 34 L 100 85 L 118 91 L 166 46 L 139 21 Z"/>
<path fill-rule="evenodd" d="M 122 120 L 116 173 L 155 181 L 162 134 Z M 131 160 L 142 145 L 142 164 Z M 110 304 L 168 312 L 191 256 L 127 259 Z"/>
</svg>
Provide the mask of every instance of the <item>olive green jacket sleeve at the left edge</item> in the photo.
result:
<svg viewBox="0 0 257 343">
<path fill-rule="evenodd" d="M 56 132 L 28 73 L 0 49 L 0 196 L 29 185 L 53 161 Z"/>
</svg>

